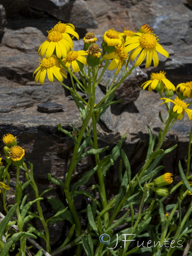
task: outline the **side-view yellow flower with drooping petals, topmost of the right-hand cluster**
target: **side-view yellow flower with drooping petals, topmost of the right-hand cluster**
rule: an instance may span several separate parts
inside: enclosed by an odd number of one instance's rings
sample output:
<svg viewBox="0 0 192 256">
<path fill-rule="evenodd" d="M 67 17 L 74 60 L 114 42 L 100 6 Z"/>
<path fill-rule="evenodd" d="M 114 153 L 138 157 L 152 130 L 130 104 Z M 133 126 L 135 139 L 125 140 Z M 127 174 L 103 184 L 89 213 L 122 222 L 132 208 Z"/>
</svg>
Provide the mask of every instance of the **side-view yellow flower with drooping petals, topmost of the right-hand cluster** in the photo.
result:
<svg viewBox="0 0 192 256">
<path fill-rule="evenodd" d="M 162 90 L 164 90 L 164 86 L 167 87 L 168 90 L 175 91 L 175 86 L 166 78 L 165 76 L 166 72 L 160 71 L 159 73 L 151 73 L 150 80 L 146 81 L 145 83 L 141 84 L 141 87 L 143 87 L 143 90 L 149 85 L 148 90 L 151 92 L 152 90 L 155 90 L 157 84 L 162 83 Z M 161 85 L 161 84 L 159 84 Z"/>
</svg>

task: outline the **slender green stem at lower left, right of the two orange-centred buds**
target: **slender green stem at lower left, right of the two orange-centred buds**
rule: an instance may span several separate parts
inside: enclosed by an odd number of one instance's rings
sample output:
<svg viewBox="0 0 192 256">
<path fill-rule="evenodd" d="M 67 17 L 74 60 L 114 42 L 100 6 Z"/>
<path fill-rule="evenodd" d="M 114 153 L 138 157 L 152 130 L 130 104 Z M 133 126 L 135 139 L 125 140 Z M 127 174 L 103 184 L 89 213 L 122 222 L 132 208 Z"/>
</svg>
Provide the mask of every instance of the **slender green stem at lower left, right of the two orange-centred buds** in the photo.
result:
<svg viewBox="0 0 192 256">
<path fill-rule="evenodd" d="M 39 191 L 38 191 L 38 187 L 37 187 L 36 182 L 35 182 L 34 177 L 33 177 L 33 170 L 29 170 L 28 171 L 28 176 L 29 176 L 29 178 L 31 180 L 31 183 L 32 183 L 32 188 L 33 188 L 35 199 L 37 199 L 37 198 L 39 198 Z M 46 251 L 48 253 L 50 253 L 51 252 L 51 248 L 50 248 L 50 236 L 49 236 L 48 225 L 47 225 L 47 223 L 46 223 L 46 221 L 44 219 L 42 208 L 41 208 L 41 205 L 40 205 L 40 201 L 37 201 L 36 205 L 37 205 L 37 212 L 39 214 L 41 223 L 42 223 L 42 225 L 44 227 L 44 231 L 45 231 Z"/>
</svg>

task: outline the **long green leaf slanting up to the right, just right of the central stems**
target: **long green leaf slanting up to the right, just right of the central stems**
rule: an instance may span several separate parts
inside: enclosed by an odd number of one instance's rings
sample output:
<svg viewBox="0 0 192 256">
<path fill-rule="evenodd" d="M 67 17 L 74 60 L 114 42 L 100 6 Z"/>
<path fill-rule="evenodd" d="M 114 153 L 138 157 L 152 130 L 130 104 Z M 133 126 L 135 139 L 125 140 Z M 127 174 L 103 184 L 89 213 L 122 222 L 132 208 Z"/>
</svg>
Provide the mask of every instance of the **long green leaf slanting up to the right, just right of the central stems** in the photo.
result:
<svg viewBox="0 0 192 256">
<path fill-rule="evenodd" d="M 117 158 L 120 156 L 120 152 L 121 152 L 121 147 L 122 144 L 124 142 L 124 140 L 127 137 L 127 134 L 124 134 L 124 136 L 121 138 L 121 140 L 119 140 L 116 144 L 116 146 L 111 150 L 110 155 L 113 156 L 113 158 L 110 159 L 110 162 L 108 164 L 106 164 L 105 166 L 103 166 L 103 175 L 106 175 L 106 172 L 109 170 L 109 168 L 114 165 L 115 161 L 117 160 Z"/>
</svg>

